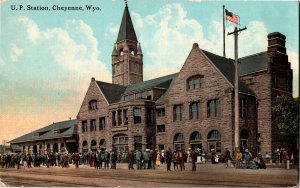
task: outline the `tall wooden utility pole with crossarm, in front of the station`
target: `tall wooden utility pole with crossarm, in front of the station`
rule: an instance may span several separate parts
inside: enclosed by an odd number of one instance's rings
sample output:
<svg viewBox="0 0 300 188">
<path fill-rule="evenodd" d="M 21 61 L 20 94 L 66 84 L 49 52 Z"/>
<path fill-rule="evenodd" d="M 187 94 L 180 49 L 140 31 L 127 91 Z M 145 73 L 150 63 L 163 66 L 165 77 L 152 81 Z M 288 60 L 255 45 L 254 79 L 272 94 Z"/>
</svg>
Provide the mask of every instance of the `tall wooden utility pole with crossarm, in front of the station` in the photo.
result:
<svg viewBox="0 0 300 188">
<path fill-rule="evenodd" d="M 239 130 L 239 74 L 238 74 L 238 35 L 239 32 L 246 30 L 244 27 L 242 29 L 234 28 L 233 32 L 228 33 L 228 35 L 234 35 L 234 147 L 237 151 L 240 147 L 240 130 Z"/>
</svg>

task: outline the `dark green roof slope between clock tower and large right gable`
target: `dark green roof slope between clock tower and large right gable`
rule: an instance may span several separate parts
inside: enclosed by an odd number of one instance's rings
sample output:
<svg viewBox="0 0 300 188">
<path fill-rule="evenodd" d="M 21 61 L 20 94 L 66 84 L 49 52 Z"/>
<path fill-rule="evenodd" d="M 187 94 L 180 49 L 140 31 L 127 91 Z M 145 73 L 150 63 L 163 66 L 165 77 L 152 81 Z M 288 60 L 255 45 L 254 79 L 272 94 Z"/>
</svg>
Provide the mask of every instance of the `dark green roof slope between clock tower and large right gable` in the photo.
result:
<svg viewBox="0 0 300 188">
<path fill-rule="evenodd" d="M 160 87 L 160 88 L 167 89 L 167 88 L 169 88 L 171 81 L 174 78 L 176 78 L 177 75 L 178 75 L 178 73 L 170 74 L 170 75 L 155 78 L 152 80 L 147 80 L 145 82 L 128 85 L 125 90 L 125 93 L 129 93 L 132 91 L 138 91 L 138 90 L 146 90 L 146 89 L 150 89 L 153 87 Z"/>
</svg>

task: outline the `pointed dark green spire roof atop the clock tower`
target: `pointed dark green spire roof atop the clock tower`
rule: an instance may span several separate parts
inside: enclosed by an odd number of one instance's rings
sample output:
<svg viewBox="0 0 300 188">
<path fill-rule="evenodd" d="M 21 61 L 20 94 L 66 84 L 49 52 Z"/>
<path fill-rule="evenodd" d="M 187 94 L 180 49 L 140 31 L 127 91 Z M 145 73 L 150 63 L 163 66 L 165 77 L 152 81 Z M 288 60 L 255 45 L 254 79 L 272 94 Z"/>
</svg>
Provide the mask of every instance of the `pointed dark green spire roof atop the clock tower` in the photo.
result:
<svg viewBox="0 0 300 188">
<path fill-rule="evenodd" d="M 125 39 L 136 41 L 136 42 L 138 41 L 133 28 L 133 24 L 131 21 L 127 4 L 125 6 L 125 10 L 123 13 L 122 23 L 119 29 L 117 42 Z"/>
</svg>

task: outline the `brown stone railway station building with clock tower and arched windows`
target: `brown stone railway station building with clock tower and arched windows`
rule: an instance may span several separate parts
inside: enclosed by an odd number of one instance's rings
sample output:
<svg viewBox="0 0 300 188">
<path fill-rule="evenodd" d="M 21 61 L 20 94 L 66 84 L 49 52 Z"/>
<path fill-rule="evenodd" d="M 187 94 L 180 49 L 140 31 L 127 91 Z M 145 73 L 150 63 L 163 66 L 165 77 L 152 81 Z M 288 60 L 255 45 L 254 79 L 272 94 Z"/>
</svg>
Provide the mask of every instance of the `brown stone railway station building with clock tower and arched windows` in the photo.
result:
<svg viewBox="0 0 300 188">
<path fill-rule="evenodd" d="M 277 95 L 292 96 L 285 39 L 281 33 L 270 33 L 266 51 L 239 59 L 240 145 L 253 154 L 288 148 L 271 113 Z M 178 73 L 143 81 L 143 52 L 127 5 L 112 46 L 113 83 L 91 79 L 72 129 L 76 133 L 71 131 L 71 138 L 52 135 L 52 151 L 66 147 L 68 140 L 75 141 L 70 151 L 83 153 L 168 147 L 233 151 L 234 60 L 194 43 Z M 48 141 L 30 139 L 11 143 L 29 151 L 35 145 L 41 145 L 37 150 L 48 147 Z M 54 147 L 55 143 L 65 145 Z"/>
</svg>

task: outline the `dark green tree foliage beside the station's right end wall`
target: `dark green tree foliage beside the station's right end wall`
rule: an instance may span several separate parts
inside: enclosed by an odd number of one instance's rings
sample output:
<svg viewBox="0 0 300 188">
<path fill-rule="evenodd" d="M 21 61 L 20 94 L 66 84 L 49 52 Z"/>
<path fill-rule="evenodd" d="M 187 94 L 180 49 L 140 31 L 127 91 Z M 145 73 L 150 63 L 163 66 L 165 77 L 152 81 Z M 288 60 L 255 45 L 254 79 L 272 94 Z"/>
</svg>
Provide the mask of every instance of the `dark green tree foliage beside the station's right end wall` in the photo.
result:
<svg viewBox="0 0 300 188">
<path fill-rule="evenodd" d="M 288 136 L 299 134 L 298 100 L 299 97 L 277 96 L 272 108 L 277 127 Z"/>
</svg>

